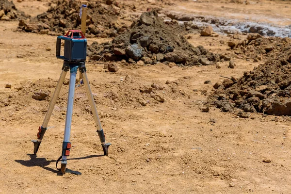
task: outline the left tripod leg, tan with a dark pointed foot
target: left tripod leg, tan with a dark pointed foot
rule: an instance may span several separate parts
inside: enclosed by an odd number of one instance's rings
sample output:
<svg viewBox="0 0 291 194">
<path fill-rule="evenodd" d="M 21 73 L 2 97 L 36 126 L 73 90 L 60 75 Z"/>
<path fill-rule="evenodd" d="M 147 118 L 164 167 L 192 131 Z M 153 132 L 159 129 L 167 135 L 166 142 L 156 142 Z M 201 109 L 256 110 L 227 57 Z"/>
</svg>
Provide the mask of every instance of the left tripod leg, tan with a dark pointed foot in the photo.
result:
<svg viewBox="0 0 291 194">
<path fill-rule="evenodd" d="M 65 80 L 65 75 L 67 73 L 69 69 L 67 68 L 67 66 L 63 66 L 62 68 L 62 73 L 61 73 L 61 76 L 60 76 L 60 79 L 59 79 L 59 82 L 57 84 L 57 87 L 53 93 L 53 96 L 52 96 L 52 99 L 51 99 L 51 102 L 49 104 L 49 109 L 46 113 L 46 117 L 44 119 L 44 122 L 42 124 L 42 126 L 40 126 L 38 128 L 38 133 L 37 133 L 37 140 L 32 140 L 33 142 L 33 145 L 34 145 L 34 149 L 33 149 L 33 153 L 36 154 L 37 151 L 38 151 L 38 148 L 40 146 L 40 143 L 45 135 L 45 132 L 47 130 L 47 127 L 48 127 L 48 123 L 49 123 L 49 119 L 50 119 L 50 116 L 52 114 L 52 111 L 53 111 L 53 108 L 56 104 L 56 101 L 57 101 L 57 98 L 60 94 L 60 91 L 61 91 L 61 88 L 62 88 L 62 85 L 63 85 L 63 82 Z"/>
</svg>

